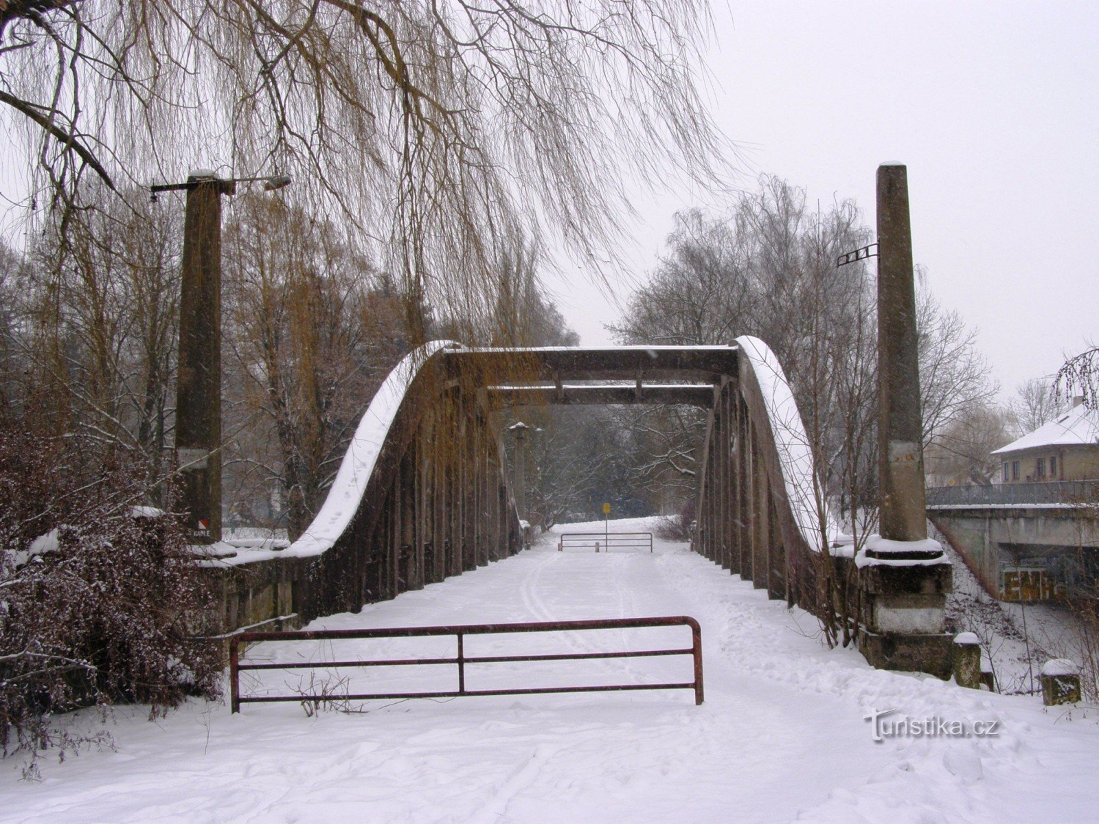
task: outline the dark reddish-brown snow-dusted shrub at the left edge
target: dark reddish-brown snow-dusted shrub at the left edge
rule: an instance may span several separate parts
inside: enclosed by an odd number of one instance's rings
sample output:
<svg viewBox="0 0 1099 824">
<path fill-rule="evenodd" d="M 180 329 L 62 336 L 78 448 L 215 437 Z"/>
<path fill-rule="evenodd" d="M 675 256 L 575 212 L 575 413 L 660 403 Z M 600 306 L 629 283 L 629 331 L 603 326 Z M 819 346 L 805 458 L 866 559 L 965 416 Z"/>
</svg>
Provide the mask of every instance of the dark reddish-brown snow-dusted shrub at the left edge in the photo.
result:
<svg viewBox="0 0 1099 824">
<path fill-rule="evenodd" d="M 4 755 L 77 743 L 52 719 L 78 706 L 138 701 L 155 716 L 212 697 L 220 671 L 218 650 L 189 637 L 208 599 L 179 521 L 135 509 L 144 472 L 24 420 L 0 415 Z"/>
</svg>

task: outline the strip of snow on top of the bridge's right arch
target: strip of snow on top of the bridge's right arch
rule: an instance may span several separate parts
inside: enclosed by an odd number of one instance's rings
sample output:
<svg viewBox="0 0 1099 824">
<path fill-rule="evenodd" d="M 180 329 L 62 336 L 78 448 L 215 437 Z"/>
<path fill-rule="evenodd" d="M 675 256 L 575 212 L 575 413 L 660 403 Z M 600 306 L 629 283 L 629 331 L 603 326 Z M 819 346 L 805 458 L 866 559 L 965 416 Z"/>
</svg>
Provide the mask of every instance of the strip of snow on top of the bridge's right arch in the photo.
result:
<svg viewBox="0 0 1099 824">
<path fill-rule="evenodd" d="M 809 437 L 793 400 L 793 392 L 786 380 L 778 358 L 758 337 L 744 335 L 736 338 L 741 350 L 747 355 L 752 370 L 763 392 L 767 416 L 770 420 L 771 434 L 778 449 L 778 460 L 782 467 L 782 479 L 786 481 L 786 495 L 793 510 L 798 528 L 809 547 L 821 548 L 820 516 L 818 514 L 818 483 L 813 477 L 813 455 L 809 446 Z M 830 542 L 844 543 L 839 521 L 826 502 L 824 517 L 828 524 L 826 534 Z"/>
</svg>

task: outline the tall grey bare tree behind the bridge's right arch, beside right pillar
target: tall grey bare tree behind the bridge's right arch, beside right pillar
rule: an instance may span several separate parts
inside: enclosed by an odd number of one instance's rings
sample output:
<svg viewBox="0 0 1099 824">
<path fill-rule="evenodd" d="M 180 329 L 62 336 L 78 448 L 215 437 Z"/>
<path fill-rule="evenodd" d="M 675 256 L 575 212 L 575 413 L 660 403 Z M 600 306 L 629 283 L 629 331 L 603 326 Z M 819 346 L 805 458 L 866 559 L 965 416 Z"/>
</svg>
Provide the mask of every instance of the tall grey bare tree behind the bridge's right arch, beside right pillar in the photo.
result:
<svg viewBox="0 0 1099 824">
<path fill-rule="evenodd" d="M 853 203 L 811 210 L 803 190 L 764 176 L 756 191 L 739 198 L 730 220 L 697 210 L 676 216 L 668 253 L 633 296 L 622 324 L 612 329 L 632 344 L 762 337 L 778 355 L 807 415 L 820 465 L 834 468 L 829 483 L 837 494 L 846 487 L 843 478 L 857 475 L 856 456 L 857 466 L 868 457 L 864 442 L 872 438 L 864 430 L 873 421 L 862 410 L 873 401 L 876 372 L 868 272 L 862 264 L 837 271 L 834 260 L 867 237 Z M 635 417 L 651 425 L 654 414 Z M 681 414 L 675 420 L 659 414 L 665 424 L 688 423 Z M 635 433 L 645 445 L 639 466 L 654 482 L 690 479 L 693 439 L 700 436 L 690 420 L 664 438 L 643 428 Z M 847 448 L 843 434 L 851 427 L 862 433 L 854 448 Z M 685 491 L 689 487 L 684 483 Z"/>
</svg>

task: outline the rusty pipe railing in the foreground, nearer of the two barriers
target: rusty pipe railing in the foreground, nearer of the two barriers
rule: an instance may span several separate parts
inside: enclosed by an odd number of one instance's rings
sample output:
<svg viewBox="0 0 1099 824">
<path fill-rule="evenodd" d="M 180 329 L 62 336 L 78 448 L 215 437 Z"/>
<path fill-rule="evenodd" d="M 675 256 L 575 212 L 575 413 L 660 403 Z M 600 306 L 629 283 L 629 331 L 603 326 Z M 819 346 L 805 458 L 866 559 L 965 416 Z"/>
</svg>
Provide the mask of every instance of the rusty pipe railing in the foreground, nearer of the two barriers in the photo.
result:
<svg viewBox="0 0 1099 824">
<path fill-rule="evenodd" d="M 689 626 L 691 646 L 677 649 L 640 649 L 606 653 L 551 653 L 543 655 L 488 655 L 467 656 L 464 638 L 467 635 L 502 635 L 510 633 L 570 632 L 582 630 L 642 630 L 657 626 Z M 403 638 L 453 635 L 457 639 L 457 655 L 453 658 L 398 658 L 380 660 L 292 661 L 260 664 L 241 662 L 241 645 L 264 641 L 348 641 L 357 638 Z M 564 661 L 599 658 L 644 658 L 654 656 L 689 655 L 693 660 L 695 678 L 679 683 L 628 683 L 582 687 L 529 687 L 500 690 L 466 689 L 467 664 L 501 664 L 514 661 Z M 458 689 L 452 691 L 386 692 L 362 694 L 322 695 L 242 695 L 240 673 L 266 669 L 329 669 L 338 667 L 404 667 L 415 665 L 455 665 Z M 408 698 L 458 698 L 465 695 L 533 695 L 562 692 L 610 692 L 629 690 L 695 690 L 695 703 L 701 704 L 702 691 L 702 630 L 698 621 L 687 615 L 640 619 L 601 619 L 595 621 L 540 621 L 518 624 L 459 624 L 451 626 L 401 626 L 380 630 L 306 630 L 299 632 L 248 632 L 230 638 L 229 649 L 230 706 L 241 711 L 243 703 L 270 703 L 277 701 L 370 701 Z"/>
</svg>

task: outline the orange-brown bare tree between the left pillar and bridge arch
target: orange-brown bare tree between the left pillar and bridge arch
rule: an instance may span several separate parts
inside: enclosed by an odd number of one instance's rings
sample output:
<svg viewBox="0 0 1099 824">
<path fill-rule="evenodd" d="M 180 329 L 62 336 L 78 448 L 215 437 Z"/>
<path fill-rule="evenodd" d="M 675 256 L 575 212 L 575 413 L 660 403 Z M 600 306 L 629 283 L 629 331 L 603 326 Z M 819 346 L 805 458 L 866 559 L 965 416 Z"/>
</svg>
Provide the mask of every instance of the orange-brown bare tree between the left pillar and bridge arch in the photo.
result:
<svg viewBox="0 0 1099 824">
<path fill-rule="evenodd" d="M 399 308 L 371 294 L 374 268 L 331 224 L 244 199 L 224 247 L 230 486 L 238 503 L 277 489 L 297 537 L 408 337 L 380 325 Z"/>
</svg>

